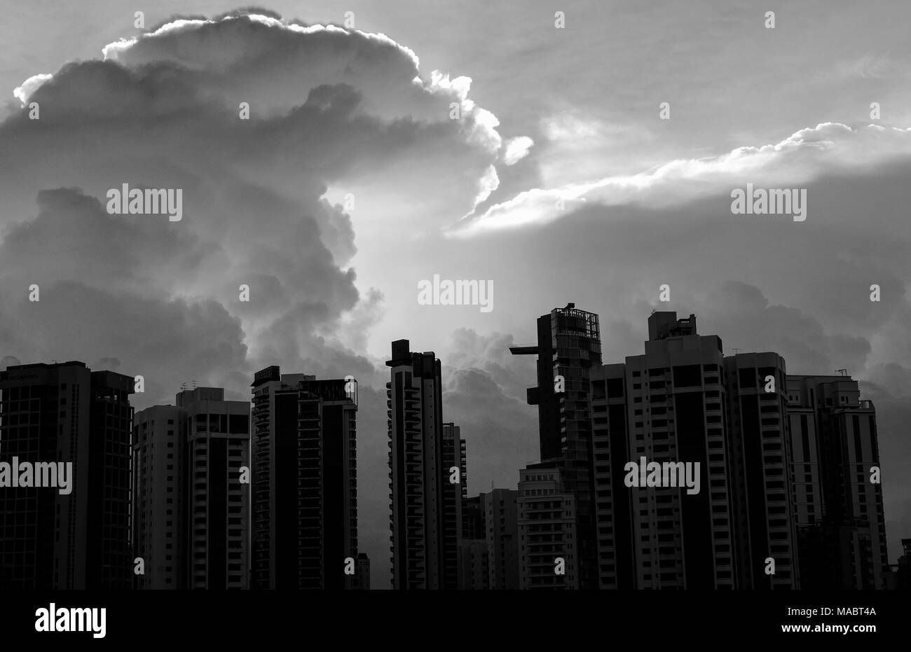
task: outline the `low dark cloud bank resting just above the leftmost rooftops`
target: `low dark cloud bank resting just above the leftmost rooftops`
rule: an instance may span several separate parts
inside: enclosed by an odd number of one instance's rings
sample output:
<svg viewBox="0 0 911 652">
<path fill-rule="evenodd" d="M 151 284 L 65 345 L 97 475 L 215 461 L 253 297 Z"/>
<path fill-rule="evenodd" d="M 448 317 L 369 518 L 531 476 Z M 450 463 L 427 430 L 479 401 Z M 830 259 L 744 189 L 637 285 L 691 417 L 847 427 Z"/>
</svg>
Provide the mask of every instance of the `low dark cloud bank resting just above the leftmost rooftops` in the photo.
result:
<svg viewBox="0 0 911 652">
<path fill-rule="evenodd" d="M 17 294 L 21 299 L 6 303 L 0 316 L 16 325 L 18 357 L 117 357 L 118 372 L 145 378 L 137 403 L 172 402 L 177 380 L 218 385 L 245 362 L 240 321 L 217 301 L 139 297 L 72 280 L 41 285 L 40 301 L 28 301 L 25 290 Z"/>
</svg>

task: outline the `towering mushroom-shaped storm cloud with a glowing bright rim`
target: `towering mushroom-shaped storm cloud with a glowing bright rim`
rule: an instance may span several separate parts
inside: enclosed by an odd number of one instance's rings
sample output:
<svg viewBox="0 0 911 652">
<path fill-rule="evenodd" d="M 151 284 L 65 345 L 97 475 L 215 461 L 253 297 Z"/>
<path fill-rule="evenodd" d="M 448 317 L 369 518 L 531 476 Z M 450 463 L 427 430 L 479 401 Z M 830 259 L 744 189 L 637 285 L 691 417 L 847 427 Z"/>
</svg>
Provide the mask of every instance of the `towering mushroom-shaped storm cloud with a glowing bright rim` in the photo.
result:
<svg viewBox="0 0 911 652">
<path fill-rule="evenodd" d="M 268 12 L 169 21 L 105 56 L 26 84 L 20 97 L 37 103 L 40 119 L 25 106 L 0 124 L 10 290 L 75 280 L 111 296 L 216 301 L 251 345 L 241 369 L 281 360 L 372 379 L 363 351 L 335 331 L 363 341 L 357 330 L 382 295 L 346 318 L 361 301 L 343 267 L 354 227 L 327 189 L 412 170 L 456 179 L 440 185 L 461 188 L 453 192 L 468 209 L 497 157 L 496 118 L 467 100 L 466 83 L 422 81 L 415 54 L 388 37 Z M 241 102 L 250 120 L 240 119 Z M 449 119 L 451 102 L 462 119 Z M 107 189 L 123 183 L 181 188 L 184 218 L 107 215 Z M 82 189 L 47 190 L 61 186 Z M 143 337 L 121 345 L 141 349 Z M 89 346 L 97 335 L 80 331 L 74 346 L 80 338 Z M 106 354 L 128 364 L 123 351 Z"/>
</svg>

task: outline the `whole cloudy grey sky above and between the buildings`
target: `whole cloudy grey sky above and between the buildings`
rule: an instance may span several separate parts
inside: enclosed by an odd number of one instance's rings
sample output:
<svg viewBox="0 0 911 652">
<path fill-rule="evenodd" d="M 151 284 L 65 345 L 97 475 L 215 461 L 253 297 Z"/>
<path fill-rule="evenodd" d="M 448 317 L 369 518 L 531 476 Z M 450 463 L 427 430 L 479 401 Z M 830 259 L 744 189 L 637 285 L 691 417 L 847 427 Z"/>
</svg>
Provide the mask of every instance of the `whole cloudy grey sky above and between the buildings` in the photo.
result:
<svg viewBox="0 0 911 652">
<path fill-rule="evenodd" d="M 537 460 L 533 362 L 508 353 L 537 316 L 599 313 L 621 362 L 652 310 L 695 313 L 726 353 L 861 381 L 900 554 L 911 5 L 139 9 L 0 0 L 0 357 L 142 374 L 139 409 L 194 380 L 245 400 L 270 364 L 354 375 L 361 545 L 387 586 L 390 341 L 441 358 L 476 494 Z M 183 219 L 108 214 L 123 183 L 182 188 Z M 806 219 L 733 215 L 748 183 L 806 189 Z M 493 310 L 421 305 L 434 275 L 491 281 Z"/>
</svg>

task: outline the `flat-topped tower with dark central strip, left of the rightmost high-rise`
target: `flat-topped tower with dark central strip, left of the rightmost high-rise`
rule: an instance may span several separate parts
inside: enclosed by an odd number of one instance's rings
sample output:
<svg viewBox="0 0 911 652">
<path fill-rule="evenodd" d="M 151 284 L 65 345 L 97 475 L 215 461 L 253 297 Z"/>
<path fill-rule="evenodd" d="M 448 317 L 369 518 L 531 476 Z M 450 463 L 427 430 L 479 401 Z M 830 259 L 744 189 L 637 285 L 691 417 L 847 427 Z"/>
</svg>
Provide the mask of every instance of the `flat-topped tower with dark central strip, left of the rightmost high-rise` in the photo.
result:
<svg viewBox="0 0 911 652">
<path fill-rule="evenodd" d="M 773 352 L 724 359 L 734 558 L 741 588 L 800 588 L 785 373 L 784 359 Z"/>
</svg>

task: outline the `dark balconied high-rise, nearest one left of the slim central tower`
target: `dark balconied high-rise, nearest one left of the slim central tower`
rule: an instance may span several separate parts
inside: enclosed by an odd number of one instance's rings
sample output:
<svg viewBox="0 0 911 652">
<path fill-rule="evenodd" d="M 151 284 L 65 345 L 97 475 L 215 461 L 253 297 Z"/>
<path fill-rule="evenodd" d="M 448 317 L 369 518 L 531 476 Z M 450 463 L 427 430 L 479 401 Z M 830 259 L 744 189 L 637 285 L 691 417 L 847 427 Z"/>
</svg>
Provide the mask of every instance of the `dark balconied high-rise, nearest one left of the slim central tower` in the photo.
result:
<svg viewBox="0 0 911 652">
<path fill-rule="evenodd" d="M 254 586 L 352 588 L 357 382 L 273 365 L 251 387 Z"/>
</svg>

